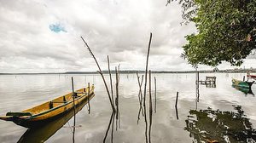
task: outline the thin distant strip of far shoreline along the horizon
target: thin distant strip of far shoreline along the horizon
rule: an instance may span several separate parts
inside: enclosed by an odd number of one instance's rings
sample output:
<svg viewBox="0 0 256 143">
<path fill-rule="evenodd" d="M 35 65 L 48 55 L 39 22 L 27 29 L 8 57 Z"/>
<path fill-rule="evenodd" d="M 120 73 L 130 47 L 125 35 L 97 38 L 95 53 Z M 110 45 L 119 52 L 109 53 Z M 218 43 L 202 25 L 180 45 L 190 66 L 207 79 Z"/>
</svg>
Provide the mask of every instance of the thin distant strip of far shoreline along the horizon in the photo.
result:
<svg viewBox="0 0 256 143">
<path fill-rule="evenodd" d="M 197 72 L 201 73 L 247 73 L 247 72 L 256 72 L 256 68 L 250 68 L 250 69 L 227 69 L 227 70 L 219 70 L 219 71 L 213 71 L 213 70 L 201 70 Z M 135 71 L 135 70 L 127 70 L 127 71 L 119 71 L 120 74 L 135 74 L 135 73 L 144 73 L 144 71 Z M 152 73 L 195 73 L 196 71 L 151 71 Z M 108 71 L 102 71 L 104 74 L 108 74 Z M 115 73 L 115 71 L 111 71 L 111 73 Z M 38 75 L 38 74 L 98 74 L 98 72 L 32 72 L 32 73 L 0 73 L 0 75 Z"/>
</svg>

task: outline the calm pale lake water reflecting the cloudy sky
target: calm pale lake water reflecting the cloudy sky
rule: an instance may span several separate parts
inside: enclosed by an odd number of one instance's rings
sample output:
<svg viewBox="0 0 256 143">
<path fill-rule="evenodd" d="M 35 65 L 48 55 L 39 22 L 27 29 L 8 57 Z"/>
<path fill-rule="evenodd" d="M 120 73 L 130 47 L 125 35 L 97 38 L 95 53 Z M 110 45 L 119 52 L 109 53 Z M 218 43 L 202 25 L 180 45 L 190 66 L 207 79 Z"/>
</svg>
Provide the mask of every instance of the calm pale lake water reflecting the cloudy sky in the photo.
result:
<svg viewBox="0 0 256 143">
<path fill-rule="evenodd" d="M 207 140 L 253 142 L 256 140 L 255 96 L 245 94 L 231 86 L 232 77 L 242 80 L 245 73 L 201 74 L 201 80 L 206 76 L 216 76 L 217 84 L 216 88 L 200 85 L 199 102 L 195 102 L 195 73 L 152 76 L 157 79 L 157 112 L 153 113 L 152 142 L 190 143 L 207 142 Z M 75 89 L 80 89 L 87 83 L 95 84 L 95 97 L 90 100 L 90 114 L 87 106 L 76 114 L 78 128 L 74 136 L 75 142 L 102 142 L 108 129 L 112 109 L 100 75 L 2 75 L 0 76 L 0 115 L 10 111 L 19 112 L 71 92 L 71 77 L 74 77 Z M 108 81 L 108 76 L 106 79 Z M 256 94 L 256 84 L 253 84 L 252 90 Z M 120 75 L 120 129 L 116 131 L 114 127 L 115 143 L 145 142 L 143 117 L 137 124 L 138 91 L 136 74 Z M 176 112 L 177 91 L 179 97 Z M 152 93 L 154 95 L 154 88 Z M 68 121 L 68 117 L 66 118 Z M 63 126 L 61 123 L 64 123 Z M 46 124 L 42 129 L 27 131 L 26 128 L 15 123 L 1 120 L 0 142 L 12 143 L 21 138 L 28 138 L 32 142 L 69 143 L 73 142 L 70 128 L 72 125 L 73 118 L 67 123 L 62 118 L 55 123 Z M 111 142 L 111 134 L 108 134 L 106 142 Z"/>
</svg>

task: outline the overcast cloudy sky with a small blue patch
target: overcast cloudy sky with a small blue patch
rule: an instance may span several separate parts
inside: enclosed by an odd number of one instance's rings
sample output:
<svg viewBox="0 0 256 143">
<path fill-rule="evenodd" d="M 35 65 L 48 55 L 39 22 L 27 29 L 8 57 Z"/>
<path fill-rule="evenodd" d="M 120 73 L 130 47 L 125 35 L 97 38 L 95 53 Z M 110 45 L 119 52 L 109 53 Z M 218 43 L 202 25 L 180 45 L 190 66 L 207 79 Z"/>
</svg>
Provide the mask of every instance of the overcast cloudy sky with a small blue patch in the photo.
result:
<svg viewBox="0 0 256 143">
<path fill-rule="evenodd" d="M 151 70 L 194 70 L 180 54 L 195 26 L 181 26 L 180 6 L 166 0 L 0 0 L 0 21 L 0 72 L 94 72 L 81 36 L 102 69 L 109 55 L 112 68 L 143 70 L 150 32 Z"/>
</svg>

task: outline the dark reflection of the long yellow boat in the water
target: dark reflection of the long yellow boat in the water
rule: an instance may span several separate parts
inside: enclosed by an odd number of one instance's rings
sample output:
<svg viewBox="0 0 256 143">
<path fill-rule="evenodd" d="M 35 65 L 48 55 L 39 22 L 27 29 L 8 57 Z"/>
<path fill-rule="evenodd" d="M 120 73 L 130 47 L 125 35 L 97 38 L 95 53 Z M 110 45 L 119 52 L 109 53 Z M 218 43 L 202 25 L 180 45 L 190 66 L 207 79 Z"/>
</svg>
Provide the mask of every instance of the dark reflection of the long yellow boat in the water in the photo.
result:
<svg viewBox="0 0 256 143">
<path fill-rule="evenodd" d="M 79 106 L 76 107 L 76 113 L 78 113 L 86 103 L 87 103 L 87 100 L 82 101 L 79 104 Z M 66 114 L 62 115 L 61 117 L 57 117 L 55 120 L 40 126 L 40 128 L 27 129 L 26 132 L 20 137 L 20 140 L 18 140 L 18 142 L 19 143 L 44 142 L 48 140 L 49 137 L 51 137 L 53 134 L 55 134 L 56 131 L 61 129 L 61 127 L 65 125 L 71 117 L 73 117 L 73 109 L 68 111 Z M 72 127 L 70 127 L 70 129 L 72 129 Z"/>
</svg>

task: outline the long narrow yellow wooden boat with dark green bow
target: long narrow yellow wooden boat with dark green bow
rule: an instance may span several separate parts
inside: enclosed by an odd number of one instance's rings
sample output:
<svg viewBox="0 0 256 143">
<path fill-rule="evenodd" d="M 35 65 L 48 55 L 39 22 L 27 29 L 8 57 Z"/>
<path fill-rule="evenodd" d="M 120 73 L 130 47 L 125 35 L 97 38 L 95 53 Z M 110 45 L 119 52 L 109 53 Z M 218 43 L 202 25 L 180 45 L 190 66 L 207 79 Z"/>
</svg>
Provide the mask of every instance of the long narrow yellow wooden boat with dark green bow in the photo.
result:
<svg viewBox="0 0 256 143">
<path fill-rule="evenodd" d="M 26 128 L 33 128 L 61 116 L 65 112 L 79 106 L 84 100 L 88 102 L 93 97 L 94 85 L 76 90 L 74 93 L 62 95 L 22 112 L 7 112 L 6 116 L 2 116 L 0 119 L 12 121 Z"/>
</svg>

